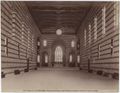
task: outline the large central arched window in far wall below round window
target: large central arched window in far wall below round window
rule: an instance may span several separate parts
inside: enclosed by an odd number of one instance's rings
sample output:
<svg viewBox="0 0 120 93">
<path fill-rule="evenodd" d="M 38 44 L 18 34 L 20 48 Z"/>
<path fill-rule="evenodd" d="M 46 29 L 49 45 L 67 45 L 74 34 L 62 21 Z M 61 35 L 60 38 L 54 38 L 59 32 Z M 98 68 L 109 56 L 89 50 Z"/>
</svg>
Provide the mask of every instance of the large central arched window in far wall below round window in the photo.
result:
<svg viewBox="0 0 120 93">
<path fill-rule="evenodd" d="M 60 46 L 55 49 L 55 62 L 63 62 L 63 51 Z"/>
</svg>

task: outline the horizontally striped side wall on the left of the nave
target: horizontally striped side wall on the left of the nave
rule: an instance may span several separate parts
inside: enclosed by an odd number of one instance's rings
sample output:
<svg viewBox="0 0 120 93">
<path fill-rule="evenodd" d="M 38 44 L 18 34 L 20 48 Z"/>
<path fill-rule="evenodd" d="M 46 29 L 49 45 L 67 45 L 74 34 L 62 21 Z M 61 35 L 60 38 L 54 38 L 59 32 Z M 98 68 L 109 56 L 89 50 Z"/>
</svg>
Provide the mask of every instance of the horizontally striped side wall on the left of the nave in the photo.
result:
<svg viewBox="0 0 120 93">
<path fill-rule="evenodd" d="M 30 69 L 36 66 L 36 27 L 24 2 L 1 2 L 1 55 L 2 72 L 24 70 L 29 58 Z"/>
</svg>

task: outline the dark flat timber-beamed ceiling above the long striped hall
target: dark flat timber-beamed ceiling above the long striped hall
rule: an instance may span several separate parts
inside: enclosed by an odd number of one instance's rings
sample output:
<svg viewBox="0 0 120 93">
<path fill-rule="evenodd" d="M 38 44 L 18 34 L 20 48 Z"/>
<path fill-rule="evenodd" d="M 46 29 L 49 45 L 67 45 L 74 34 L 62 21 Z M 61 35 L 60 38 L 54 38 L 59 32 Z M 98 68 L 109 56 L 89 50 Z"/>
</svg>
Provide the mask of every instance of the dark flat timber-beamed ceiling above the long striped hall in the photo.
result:
<svg viewBox="0 0 120 93">
<path fill-rule="evenodd" d="M 29 1 L 28 9 L 42 34 L 76 34 L 91 8 L 90 2 Z"/>
</svg>

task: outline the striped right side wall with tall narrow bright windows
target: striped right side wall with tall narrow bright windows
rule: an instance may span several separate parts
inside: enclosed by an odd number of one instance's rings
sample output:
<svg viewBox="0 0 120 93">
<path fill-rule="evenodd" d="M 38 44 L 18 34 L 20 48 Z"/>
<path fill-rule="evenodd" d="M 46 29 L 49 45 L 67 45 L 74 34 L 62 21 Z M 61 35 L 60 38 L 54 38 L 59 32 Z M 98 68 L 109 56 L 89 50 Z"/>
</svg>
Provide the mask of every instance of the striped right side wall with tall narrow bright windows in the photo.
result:
<svg viewBox="0 0 120 93">
<path fill-rule="evenodd" d="M 102 8 L 106 7 L 105 35 L 102 34 Z M 97 18 L 97 39 L 94 39 L 94 18 Z M 118 73 L 119 69 L 119 30 L 118 30 L 118 4 L 104 3 L 93 6 L 86 19 L 83 21 L 79 31 L 81 69 L 88 70 L 88 60 L 90 69 L 103 73 Z M 91 24 L 91 43 L 89 43 L 89 29 Z M 86 46 L 85 33 L 86 29 Z M 112 47 L 113 45 L 113 47 Z"/>
</svg>

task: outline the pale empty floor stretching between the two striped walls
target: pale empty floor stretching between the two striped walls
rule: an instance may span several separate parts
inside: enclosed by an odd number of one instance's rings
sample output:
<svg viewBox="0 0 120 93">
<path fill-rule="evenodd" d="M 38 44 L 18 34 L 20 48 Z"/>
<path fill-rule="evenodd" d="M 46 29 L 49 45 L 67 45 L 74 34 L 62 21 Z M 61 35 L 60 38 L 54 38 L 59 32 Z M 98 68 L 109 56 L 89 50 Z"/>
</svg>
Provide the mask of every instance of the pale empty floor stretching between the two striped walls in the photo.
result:
<svg viewBox="0 0 120 93">
<path fill-rule="evenodd" d="M 118 91 L 118 80 L 78 68 L 40 68 L 2 79 L 2 91 Z"/>
</svg>

